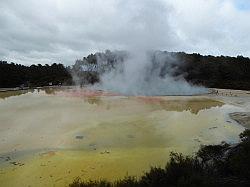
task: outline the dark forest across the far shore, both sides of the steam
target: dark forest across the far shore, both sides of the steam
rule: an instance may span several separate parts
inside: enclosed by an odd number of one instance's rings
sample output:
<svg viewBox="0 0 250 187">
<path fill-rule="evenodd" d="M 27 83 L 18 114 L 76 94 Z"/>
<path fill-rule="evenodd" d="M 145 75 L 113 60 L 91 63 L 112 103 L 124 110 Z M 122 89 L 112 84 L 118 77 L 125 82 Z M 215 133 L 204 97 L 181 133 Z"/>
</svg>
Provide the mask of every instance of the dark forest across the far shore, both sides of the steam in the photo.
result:
<svg viewBox="0 0 250 187">
<path fill-rule="evenodd" d="M 154 62 L 157 62 L 157 59 L 159 61 L 159 55 L 164 56 L 161 58 L 162 69 L 159 76 L 164 77 L 171 69 L 172 76 L 181 76 L 195 85 L 250 90 L 250 59 L 247 57 L 215 57 L 157 51 L 151 54 L 152 68 L 155 67 Z M 24 66 L 0 61 L 0 87 L 47 86 L 49 83 L 53 85 L 94 84 L 100 81 L 103 73 L 115 69 L 119 63 L 124 63 L 128 56 L 123 51 L 107 50 L 104 53 L 91 54 L 76 60 L 74 65 L 67 68 L 55 63 Z"/>
</svg>

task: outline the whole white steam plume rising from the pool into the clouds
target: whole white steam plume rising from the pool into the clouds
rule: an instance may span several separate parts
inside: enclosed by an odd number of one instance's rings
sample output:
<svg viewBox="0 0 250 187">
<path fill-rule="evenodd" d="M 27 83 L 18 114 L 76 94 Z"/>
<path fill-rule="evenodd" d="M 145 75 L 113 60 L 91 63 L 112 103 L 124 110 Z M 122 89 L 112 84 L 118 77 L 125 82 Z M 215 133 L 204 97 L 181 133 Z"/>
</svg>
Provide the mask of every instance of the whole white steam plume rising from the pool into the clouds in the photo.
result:
<svg viewBox="0 0 250 187">
<path fill-rule="evenodd" d="M 129 32 L 128 56 L 123 61 L 118 60 L 115 68 L 102 74 L 98 87 L 126 95 L 191 95 L 206 92 L 205 88 L 189 84 L 182 75 L 175 76 L 176 66 L 182 62 L 169 53 L 155 51 L 166 46 L 174 49 L 177 45 L 176 32 L 172 30 L 169 19 L 171 7 L 161 0 L 146 0 L 137 1 L 133 9 L 137 14 L 130 19 L 138 25 L 130 29 L 133 32 Z M 98 64 L 105 63 L 103 58 L 97 60 Z"/>
</svg>

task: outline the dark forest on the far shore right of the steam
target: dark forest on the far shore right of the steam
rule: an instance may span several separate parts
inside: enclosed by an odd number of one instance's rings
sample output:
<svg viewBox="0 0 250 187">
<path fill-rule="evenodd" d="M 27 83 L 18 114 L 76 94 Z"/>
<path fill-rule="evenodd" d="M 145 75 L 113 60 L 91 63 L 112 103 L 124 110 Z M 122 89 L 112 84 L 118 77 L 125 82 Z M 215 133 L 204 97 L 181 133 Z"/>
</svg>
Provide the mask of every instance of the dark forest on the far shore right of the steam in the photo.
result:
<svg viewBox="0 0 250 187">
<path fill-rule="evenodd" d="M 250 59 L 177 53 L 185 79 L 205 87 L 250 90 Z"/>
</svg>

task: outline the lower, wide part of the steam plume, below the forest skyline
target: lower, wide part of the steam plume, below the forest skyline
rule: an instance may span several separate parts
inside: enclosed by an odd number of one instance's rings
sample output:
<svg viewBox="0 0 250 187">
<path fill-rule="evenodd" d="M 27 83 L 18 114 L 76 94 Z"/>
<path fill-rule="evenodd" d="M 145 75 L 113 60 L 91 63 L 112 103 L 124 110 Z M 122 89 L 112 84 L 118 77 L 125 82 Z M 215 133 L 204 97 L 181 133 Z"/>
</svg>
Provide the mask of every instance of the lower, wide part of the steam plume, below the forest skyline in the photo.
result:
<svg viewBox="0 0 250 187">
<path fill-rule="evenodd" d="M 98 58 L 98 64 L 103 64 Z M 101 76 L 99 88 L 125 95 L 193 95 L 206 92 L 177 75 L 179 62 L 167 52 L 131 53 Z"/>
</svg>

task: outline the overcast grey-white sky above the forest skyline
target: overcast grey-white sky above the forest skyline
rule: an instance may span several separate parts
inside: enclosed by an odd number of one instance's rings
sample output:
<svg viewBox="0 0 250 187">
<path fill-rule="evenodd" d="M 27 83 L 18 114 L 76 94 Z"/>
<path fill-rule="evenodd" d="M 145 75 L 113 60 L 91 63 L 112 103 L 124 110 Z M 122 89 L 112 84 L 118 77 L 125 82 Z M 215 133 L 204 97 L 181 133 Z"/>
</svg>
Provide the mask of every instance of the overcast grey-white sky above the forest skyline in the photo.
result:
<svg viewBox="0 0 250 187">
<path fill-rule="evenodd" d="M 249 0 L 0 0 L 0 59 L 157 49 L 250 56 Z"/>
</svg>

